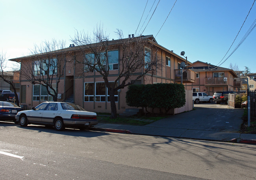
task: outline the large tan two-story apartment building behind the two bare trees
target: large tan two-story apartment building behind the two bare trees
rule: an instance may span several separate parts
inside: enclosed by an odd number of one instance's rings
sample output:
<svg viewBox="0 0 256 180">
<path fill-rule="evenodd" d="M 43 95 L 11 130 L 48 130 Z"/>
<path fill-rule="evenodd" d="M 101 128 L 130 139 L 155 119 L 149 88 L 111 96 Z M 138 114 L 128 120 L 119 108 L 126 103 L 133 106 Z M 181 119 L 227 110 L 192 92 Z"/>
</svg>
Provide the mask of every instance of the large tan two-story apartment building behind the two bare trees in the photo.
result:
<svg viewBox="0 0 256 180">
<path fill-rule="evenodd" d="M 129 37 L 130 38 L 130 37 Z M 177 54 L 173 53 L 166 49 L 165 47 L 159 45 L 152 35 L 132 37 L 132 38 L 143 38 L 147 40 L 147 43 L 150 44 L 150 47 L 143 47 L 144 51 L 147 51 L 147 61 L 150 60 L 155 53 L 161 60 L 161 65 L 157 72 L 148 74 L 143 78 L 140 78 L 135 83 L 136 84 L 153 84 L 153 83 L 174 83 L 180 82 L 180 63 L 186 62 L 186 60 Z M 119 76 L 121 71 L 121 58 L 122 58 L 122 44 L 120 40 L 109 41 L 111 47 L 113 47 L 108 53 L 111 53 L 111 65 L 109 65 L 109 81 L 114 81 L 117 76 Z M 96 46 L 95 46 L 96 47 Z M 61 77 L 59 82 L 59 97 L 65 95 L 65 97 L 72 97 L 74 103 L 80 105 L 87 111 L 94 112 L 106 112 L 110 113 L 110 102 L 108 100 L 108 89 L 104 83 L 102 76 L 96 72 L 89 72 L 86 76 L 81 76 L 79 74 L 82 71 L 82 68 L 87 68 L 84 65 L 76 64 L 74 66 L 74 61 L 83 60 L 84 56 L 89 55 L 89 53 L 81 53 L 84 50 L 79 46 L 70 45 L 69 48 L 61 49 L 58 51 L 52 52 L 52 55 L 55 56 L 54 59 L 57 59 L 59 52 L 65 52 L 65 61 L 68 63 L 64 69 L 64 75 Z M 26 57 L 20 57 L 11 59 L 11 61 L 16 61 L 21 63 L 21 71 L 24 68 L 33 69 L 34 73 L 42 73 L 40 69 L 36 68 L 36 64 L 40 56 L 32 55 Z M 146 61 L 146 59 L 145 59 Z M 24 63 L 29 62 L 30 67 L 26 66 Z M 190 62 L 187 62 L 190 65 Z M 174 70 L 175 69 L 175 70 Z M 37 72 L 38 71 L 38 72 Z M 137 74 L 142 72 L 143 68 L 137 71 Z M 195 73 L 189 69 L 185 70 L 186 76 L 183 76 L 183 82 L 195 81 Z M 131 78 L 130 82 L 132 82 Z M 20 104 L 26 105 L 28 109 L 35 107 L 36 105 L 44 102 L 51 101 L 52 97 L 47 94 L 45 87 L 38 84 L 31 84 L 26 78 L 20 76 Z M 117 113 L 124 112 L 125 109 L 130 108 L 126 105 L 126 91 L 128 87 L 120 89 L 120 91 L 115 94 L 115 101 L 117 107 Z M 62 100 L 61 100 L 62 101 Z M 65 101 L 65 99 L 63 100 Z"/>
</svg>

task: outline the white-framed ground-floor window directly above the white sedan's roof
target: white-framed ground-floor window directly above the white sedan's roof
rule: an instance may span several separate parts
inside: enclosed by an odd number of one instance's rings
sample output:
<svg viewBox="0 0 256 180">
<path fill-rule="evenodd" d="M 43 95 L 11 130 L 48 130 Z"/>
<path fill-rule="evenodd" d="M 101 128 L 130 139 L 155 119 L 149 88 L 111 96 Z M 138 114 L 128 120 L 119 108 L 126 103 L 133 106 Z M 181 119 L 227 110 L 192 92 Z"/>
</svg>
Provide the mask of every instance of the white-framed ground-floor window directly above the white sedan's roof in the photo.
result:
<svg viewBox="0 0 256 180">
<path fill-rule="evenodd" d="M 52 84 L 52 87 L 56 90 L 56 84 Z M 53 94 L 53 90 L 50 89 L 50 92 Z M 52 101 L 52 96 L 48 94 L 48 91 L 44 85 L 35 84 L 33 85 L 33 101 Z"/>
</svg>

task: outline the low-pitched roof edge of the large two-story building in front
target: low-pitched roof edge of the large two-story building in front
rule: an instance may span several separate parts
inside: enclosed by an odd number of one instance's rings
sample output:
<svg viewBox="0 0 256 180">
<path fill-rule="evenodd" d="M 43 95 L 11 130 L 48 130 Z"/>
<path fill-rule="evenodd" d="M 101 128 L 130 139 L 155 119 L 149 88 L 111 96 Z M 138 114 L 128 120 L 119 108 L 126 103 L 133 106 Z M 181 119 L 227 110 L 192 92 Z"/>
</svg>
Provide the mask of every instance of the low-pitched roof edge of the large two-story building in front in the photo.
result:
<svg viewBox="0 0 256 180">
<path fill-rule="evenodd" d="M 141 36 L 137 36 L 134 38 L 143 38 L 143 39 L 147 39 L 150 43 L 156 45 L 157 47 L 164 49 L 165 51 L 167 51 L 168 53 L 170 53 L 173 56 L 176 56 L 178 58 L 180 58 L 181 60 L 183 60 L 184 62 L 186 62 L 186 59 L 184 59 L 183 57 L 177 55 L 176 53 L 173 53 L 173 51 L 170 51 L 169 49 L 166 49 L 165 47 L 161 46 L 160 44 L 158 44 L 156 42 L 156 39 L 154 38 L 153 35 L 141 35 Z M 117 45 L 117 44 L 121 44 L 123 40 L 128 40 L 129 38 L 124 38 L 124 39 L 117 39 L 117 40 L 109 40 L 109 45 Z M 93 43 L 92 45 L 97 46 L 98 43 Z M 41 55 L 46 55 L 48 53 L 63 53 L 63 52 L 72 52 L 72 51 L 79 51 L 80 49 L 82 49 L 82 45 L 80 46 L 72 46 L 72 47 L 67 47 L 64 49 L 59 49 L 56 51 L 51 51 L 51 52 L 47 52 L 47 53 L 41 53 L 41 54 L 37 54 L 37 55 L 29 55 L 29 56 L 23 56 L 23 57 L 19 57 L 19 58 L 13 58 L 13 59 L 9 59 L 10 61 L 15 61 L 15 62 L 20 62 L 23 59 L 26 58 L 30 58 L 30 57 L 36 57 L 36 56 L 41 56 Z M 192 64 L 191 62 L 187 61 L 188 64 Z"/>
</svg>

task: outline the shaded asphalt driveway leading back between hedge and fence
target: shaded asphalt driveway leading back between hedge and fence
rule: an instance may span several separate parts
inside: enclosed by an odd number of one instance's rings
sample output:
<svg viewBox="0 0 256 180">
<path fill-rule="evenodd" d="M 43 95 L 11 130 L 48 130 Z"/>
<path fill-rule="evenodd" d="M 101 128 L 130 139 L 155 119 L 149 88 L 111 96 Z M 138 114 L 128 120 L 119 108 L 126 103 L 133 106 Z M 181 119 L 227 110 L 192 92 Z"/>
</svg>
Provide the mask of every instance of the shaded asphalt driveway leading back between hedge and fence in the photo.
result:
<svg viewBox="0 0 256 180">
<path fill-rule="evenodd" d="M 233 109 L 228 105 L 216 103 L 195 104 L 194 108 L 193 111 L 169 116 L 147 126 L 237 132 L 243 122 L 243 109 Z"/>
</svg>

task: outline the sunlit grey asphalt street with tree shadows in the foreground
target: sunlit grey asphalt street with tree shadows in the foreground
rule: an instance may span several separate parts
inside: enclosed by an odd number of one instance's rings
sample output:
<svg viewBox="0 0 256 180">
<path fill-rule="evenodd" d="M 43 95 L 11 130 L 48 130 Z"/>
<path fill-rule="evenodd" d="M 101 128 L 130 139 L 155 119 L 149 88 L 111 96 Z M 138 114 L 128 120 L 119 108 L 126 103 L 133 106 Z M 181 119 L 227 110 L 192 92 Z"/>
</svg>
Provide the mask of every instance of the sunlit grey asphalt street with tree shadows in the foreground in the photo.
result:
<svg viewBox="0 0 256 180">
<path fill-rule="evenodd" d="M 255 149 L 249 144 L 76 129 L 58 132 L 0 122 L 0 177 L 255 179 Z"/>
</svg>

